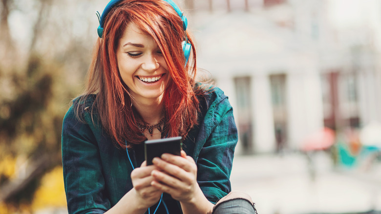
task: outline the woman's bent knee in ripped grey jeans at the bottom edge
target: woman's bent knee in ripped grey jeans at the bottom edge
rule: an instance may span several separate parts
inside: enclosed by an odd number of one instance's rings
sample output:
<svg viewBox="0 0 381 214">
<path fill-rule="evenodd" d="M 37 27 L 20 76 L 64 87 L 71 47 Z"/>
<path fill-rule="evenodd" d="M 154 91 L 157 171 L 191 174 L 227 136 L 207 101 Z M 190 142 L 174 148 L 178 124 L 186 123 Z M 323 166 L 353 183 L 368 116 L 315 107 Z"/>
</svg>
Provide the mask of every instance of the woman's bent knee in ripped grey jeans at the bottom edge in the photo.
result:
<svg viewBox="0 0 381 214">
<path fill-rule="evenodd" d="M 249 195 L 232 192 L 217 202 L 212 214 L 257 214 L 257 212 Z"/>
</svg>

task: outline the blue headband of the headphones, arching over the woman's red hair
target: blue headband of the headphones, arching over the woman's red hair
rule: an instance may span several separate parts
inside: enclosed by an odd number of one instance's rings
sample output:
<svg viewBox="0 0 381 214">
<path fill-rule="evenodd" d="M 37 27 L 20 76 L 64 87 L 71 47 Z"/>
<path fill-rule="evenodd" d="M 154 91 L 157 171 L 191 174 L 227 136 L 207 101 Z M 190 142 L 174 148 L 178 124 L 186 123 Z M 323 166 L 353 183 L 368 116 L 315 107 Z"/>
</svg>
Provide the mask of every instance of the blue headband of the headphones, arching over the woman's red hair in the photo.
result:
<svg viewBox="0 0 381 214">
<path fill-rule="evenodd" d="M 104 27 L 104 24 L 105 24 L 105 18 L 107 16 L 107 14 L 111 11 L 112 7 L 114 7 L 115 4 L 119 3 L 120 1 L 122 1 L 122 0 L 110 0 L 108 2 L 108 4 L 106 5 L 105 9 L 103 10 L 102 16 L 100 16 L 99 12 L 97 11 L 97 16 L 98 16 L 98 20 L 99 20 L 99 27 L 98 27 L 97 31 L 98 31 L 99 38 L 102 38 L 103 27 Z M 183 16 L 183 12 L 175 4 L 175 2 L 173 2 L 173 0 L 163 0 L 163 1 L 169 3 L 169 5 L 173 7 L 173 9 L 176 11 L 176 13 L 179 15 L 179 17 L 183 21 L 183 29 L 184 29 L 184 31 L 186 31 L 187 30 L 187 26 L 188 26 L 187 17 Z"/>
</svg>

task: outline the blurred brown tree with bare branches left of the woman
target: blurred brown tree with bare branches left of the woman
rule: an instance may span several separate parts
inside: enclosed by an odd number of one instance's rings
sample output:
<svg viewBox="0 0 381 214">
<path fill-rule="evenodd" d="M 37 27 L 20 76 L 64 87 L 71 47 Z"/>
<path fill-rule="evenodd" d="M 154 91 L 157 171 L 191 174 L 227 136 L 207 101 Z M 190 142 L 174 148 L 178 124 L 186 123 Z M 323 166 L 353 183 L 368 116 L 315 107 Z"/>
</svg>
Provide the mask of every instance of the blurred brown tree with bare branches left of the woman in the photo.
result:
<svg viewBox="0 0 381 214">
<path fill-rule="evenodd" d="M 0 207 L 30 205 L 43 175 L 61 166 L 63 116 L 82 87 L 91 54 L 88 37 L 73 30 L 79 19 L 68 11 L 89 2 L 1 0 Z M 26 21 L 27 36 L 12 31 L 12 15 Z"/>
</svg>

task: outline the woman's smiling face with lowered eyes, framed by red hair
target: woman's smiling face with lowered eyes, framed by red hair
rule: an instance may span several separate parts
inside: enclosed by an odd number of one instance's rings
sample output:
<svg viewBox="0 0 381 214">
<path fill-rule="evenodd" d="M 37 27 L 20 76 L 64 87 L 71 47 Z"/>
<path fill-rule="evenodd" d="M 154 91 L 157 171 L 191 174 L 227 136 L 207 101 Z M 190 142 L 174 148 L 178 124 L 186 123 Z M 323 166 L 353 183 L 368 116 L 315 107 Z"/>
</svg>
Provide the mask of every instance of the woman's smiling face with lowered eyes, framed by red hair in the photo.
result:
<svg viewBox="0 0 381 214">
<path fill-rule="evenodd" d="M 167 64 L 153 38 L 132 22 L 119 40 L 117 61 L 122 80 L 135 101 L 162 100 L 170 80 Z"/>
</svg>

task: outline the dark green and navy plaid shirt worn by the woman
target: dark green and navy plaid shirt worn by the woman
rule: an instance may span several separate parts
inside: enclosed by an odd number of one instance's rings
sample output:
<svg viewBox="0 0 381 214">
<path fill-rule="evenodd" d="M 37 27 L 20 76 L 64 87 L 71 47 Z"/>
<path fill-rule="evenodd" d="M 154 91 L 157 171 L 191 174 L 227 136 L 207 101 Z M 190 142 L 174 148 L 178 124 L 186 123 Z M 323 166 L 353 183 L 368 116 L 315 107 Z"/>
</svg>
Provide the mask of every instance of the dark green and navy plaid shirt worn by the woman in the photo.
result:
<svg viewBox="0 0 381 214">
<path fill-rule="evenodd" d="M 94 102 L 89 97 L 84 108 Z M 230 173 L 237 129 L 228 97 L 215 87 L 199 97 L 199 125 L 192 128 L 183 142 L 183 150 L 197 164 L 197 182 L 212 203 L 231 192 Z M 132 189 L 133 170 L 126 150 L 117 148 L 103 131 L 96 115 L 84 111 L 85 123 L 78 120 L 74 109 L 67 111 L 62 130 L 63 178 L 69 214 L 102 214 Z M 87 108 L 90 109 L 90 108 Z M 93 116 L 93 118 L 92 118 Z M 92 122 L 94 119 L 95 123 Z M 143 145 L 128 151 L 133 165 L 144 161 Z M 170 214 L 181 214 L 181 207 L 168 194 L 163 196 Z M 127 209 L 127 208 L 126 208 Z M 151 208 L 151 213 L 156 205 Z M 163 204 L 157 214 L 167 213 Z"/>
</svg>

